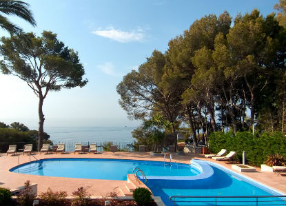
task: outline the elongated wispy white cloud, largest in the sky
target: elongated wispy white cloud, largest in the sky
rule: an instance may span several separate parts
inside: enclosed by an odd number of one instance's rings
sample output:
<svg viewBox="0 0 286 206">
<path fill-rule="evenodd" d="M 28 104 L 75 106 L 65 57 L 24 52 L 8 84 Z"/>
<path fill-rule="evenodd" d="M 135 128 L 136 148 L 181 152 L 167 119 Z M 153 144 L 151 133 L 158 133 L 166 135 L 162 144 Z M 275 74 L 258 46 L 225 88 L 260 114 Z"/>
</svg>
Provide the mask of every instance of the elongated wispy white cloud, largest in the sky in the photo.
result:
<svg viewBox="0 0 286 206">
<path fill-rule="evenodd" d="M 122 43 L 127 43 L 130 41 L 143 41 L 144 38 L 143 30 L 141 28 L 137 28 L 136 30 L 132 30 L 131 32 L 125 32 L 110 26 L 105 29 L 98 28 L 97 30 L 93 31 L 92 34 L 96 34 L 98 36 L 112 39 L 114 41 L 119 41 Z"/>
</svg>

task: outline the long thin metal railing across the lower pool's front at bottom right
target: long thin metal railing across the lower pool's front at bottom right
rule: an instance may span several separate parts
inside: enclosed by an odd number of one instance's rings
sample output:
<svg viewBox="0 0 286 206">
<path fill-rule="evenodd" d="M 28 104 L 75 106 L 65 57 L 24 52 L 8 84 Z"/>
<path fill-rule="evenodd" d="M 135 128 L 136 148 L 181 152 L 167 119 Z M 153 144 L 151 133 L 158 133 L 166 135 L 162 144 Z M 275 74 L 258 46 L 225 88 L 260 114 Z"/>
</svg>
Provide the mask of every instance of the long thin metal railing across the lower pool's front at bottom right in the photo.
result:
<svg viewBox="0 0 286 206">
<path fill-rule="evenodd" d="M 176 198 L 214 198 L 214 200 L 176 200 Z M 242 198 L 242 200 L 219 200 L 219 198 Z M 254 198 L 254 200 L 245 200 L 245 198 Z M 281 198 L 281 200 L 260 200 L 258 198 Z M 218 203 L 239 203 L 238 205 L 241 205 L 241 203 L 245 203 L 245 206 L 249 206 L 249 203 L 253 203 L 253 205 L 258 206 L 258 203 L 275 203 L 274 205 L 286 205 L 286 196 L 285 195 L 278 195 L 278 196 L 170 196 L 169 200 L 174 201 L 174 204 L 176 203 L 215 203 L 216 206 L 218 206 Z M 282 202 L 282 203 L 280 203 Z M 284 202 L 284 203 L 283 203 Z M 185 204 L 184 204 L 185 205 Z M 250 204 L 252 205 L 252 204 Z M 265 205 L 265 204 L 262 204 Z M 232 205 L 236 206 L 236 205 Z"/>
</svg>

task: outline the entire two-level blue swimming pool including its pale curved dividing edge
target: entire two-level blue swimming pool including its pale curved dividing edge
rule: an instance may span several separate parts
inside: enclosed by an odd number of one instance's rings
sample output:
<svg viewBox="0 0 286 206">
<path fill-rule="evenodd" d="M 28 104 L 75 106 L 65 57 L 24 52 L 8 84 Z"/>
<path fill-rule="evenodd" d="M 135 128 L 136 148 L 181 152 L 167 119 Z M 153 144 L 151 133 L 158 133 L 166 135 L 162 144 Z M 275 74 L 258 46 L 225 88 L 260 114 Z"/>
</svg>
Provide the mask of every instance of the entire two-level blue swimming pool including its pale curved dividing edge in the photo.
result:
<svg viewBox="0 0 286 206">
<path fill-rule="evenodd" d="M 174 201 L 169 199 L 170 196 L 285 195 L 224 167 L 199 160 L 192 160 L 192 164 L 187 165 L 120 159 L 50 158 L 13 167 L 10 172 L 126 181 L 127 174 L 132 174 L 134 167 L 143 170 L 147 176 L 147 187 L 152 190 L 154 196 L 160 196 L 167 206 L 192 205 L 190 198 L 187 199 L 187 203 L 183 198 L 181 198 L 182 202 L 180 198 L 176 198 L 176 204 L 174 204 Z M 196 198 L 196 200 L 204 200 L 204 198 Z M 269 205 L 268 200 L 280 200 L 280 198 L 267 198 L 264 202 L 266 205 Z M 224 203 L 224 205 L 231 204 L 232 202 Z M 196 205 L 214 205 L 214 200 L 212 203 L 196 203 Z"/>
</svg>

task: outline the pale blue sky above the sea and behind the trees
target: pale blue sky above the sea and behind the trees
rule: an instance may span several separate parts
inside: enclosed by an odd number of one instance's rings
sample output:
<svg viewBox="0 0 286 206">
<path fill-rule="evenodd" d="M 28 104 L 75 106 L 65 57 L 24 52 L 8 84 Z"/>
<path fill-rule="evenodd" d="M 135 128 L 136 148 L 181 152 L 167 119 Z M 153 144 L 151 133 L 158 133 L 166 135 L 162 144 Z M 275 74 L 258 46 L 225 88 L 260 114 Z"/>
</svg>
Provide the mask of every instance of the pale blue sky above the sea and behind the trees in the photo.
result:
<svg viewBox="0 0 286 206">
<path fill-rule="evenodd" d="M 116 85 L 123 76 L 151 56 L 165 52 L 170 39 L 206 14 L 232 17 L 254 8 L 266 16 L 278 0 L 28 0 L 37 27 L 17 17 L 10 21 L 38 36 L 43 30 L 57 34 L 79 52 L 88 84 L 50 92 L 43 103 L 45 127 L 139 126 L 120 107 Z M 8 33 L 0 29 L 1 36 Z M 16 76 L 0 74 L 0 121 L 28 127 L 38 125 L 38 99 Z"/>
</svg>

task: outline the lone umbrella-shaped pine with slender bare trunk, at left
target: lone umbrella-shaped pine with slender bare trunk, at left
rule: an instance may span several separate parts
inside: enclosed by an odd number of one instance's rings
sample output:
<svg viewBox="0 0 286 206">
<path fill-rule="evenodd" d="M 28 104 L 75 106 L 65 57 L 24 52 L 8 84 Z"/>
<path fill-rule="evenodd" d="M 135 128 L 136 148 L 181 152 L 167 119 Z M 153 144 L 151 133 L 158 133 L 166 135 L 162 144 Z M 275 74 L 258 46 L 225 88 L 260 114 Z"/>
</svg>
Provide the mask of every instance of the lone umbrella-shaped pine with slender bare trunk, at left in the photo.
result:
<svg viewBox="0 0 286 206">
<path fill-rule="evenodd" d="M 26 41 L 28 38 L 29 41 Z M 43 31 L 41 37 L 33 33 L 2 37 L 0 69 L 25 81 L 39 98 L 39 149 L 43 140 L 43 100 L 50 91 L 83 87 L 85 70 L 79 55 L 57 39 L 57 34 Z"/>
</svg>

